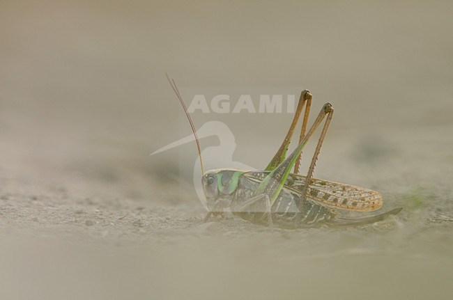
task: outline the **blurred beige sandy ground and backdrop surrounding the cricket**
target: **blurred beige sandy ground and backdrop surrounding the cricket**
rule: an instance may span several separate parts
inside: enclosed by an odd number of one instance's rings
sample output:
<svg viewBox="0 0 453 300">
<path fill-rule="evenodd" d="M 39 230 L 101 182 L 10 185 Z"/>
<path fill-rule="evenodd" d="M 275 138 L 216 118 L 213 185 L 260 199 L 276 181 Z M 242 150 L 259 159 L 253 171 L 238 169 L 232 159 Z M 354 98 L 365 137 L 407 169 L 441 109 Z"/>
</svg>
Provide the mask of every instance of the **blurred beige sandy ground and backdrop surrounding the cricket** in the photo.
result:
<svg viewBox="0 0 453 300">
<path fill-rule="evenodd" d="M 2 298 L 451 299 L 452 10 L 1 0 Z M 348 230 L 201 224 L 194 145 L 149 156 L 191 133 L 165 72 L 181 90 L 307 88 L 315 113 L 332 102 L 315 176 L 404 211 Z M 233 159 L 260 168 L 292 115 L 192 118 L 222 120 Z"/>
</svg>

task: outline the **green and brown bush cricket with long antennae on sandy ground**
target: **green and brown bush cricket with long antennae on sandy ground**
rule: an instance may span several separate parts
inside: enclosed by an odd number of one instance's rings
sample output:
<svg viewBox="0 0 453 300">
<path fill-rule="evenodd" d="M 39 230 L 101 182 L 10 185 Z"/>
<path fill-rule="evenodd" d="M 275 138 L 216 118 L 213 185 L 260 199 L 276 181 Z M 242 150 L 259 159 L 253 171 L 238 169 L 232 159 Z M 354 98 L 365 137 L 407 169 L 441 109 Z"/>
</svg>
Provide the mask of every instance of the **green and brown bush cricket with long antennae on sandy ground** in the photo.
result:
<svg viewBox="0 0 453 300">
<path fill-rule="evenodd" d="M 302 90 L 295 116 L 284 141 L 264 171 L 217 169 L 204 172 L 197 131 L 174 80 L 169 79 L 169 82 L 183 106 L 197 142 L 201 171 L 204 174 L 201 177 L 201 183 L 209 209 L 204 219 L 205 222 L 211 215 L 223 215 L 224 210 L 229 209 L 234 215 L 252 223 L 276 225 L 282 228 L 312 228 L 323 225 L 362 226 L 381 221 L 386 216 L 398 214 L 402 210 L 402 207 L 399 207 L 371 216 L 342 216 L 342 212 L 345 211 L 371 212 L 378 210 L 383 205 L 383 199 L 381 194 L 371 189 L 312 177 L 334 109 L 332 104 L 324 104 L 314 124 L 306 132 L 312 104 L 312 94 L 308 90 Z M 298 146 L 286 157 L 289 143 L 302 112 L 303 119 Z M 323 120 L 325 122 L 308 173 L 306 176 L 300 175 L 302 149 Z M 291 173 L 293 168 L 294 171 Z"/>
</svg>

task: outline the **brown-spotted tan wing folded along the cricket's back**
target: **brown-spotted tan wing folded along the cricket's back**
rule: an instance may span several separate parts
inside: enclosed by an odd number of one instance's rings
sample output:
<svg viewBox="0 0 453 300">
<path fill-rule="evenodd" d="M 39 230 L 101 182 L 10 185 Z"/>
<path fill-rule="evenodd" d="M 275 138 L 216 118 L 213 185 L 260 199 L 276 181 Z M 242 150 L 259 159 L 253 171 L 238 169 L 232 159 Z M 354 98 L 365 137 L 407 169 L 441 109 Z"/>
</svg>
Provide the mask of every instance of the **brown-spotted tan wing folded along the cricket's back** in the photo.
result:
<svg viewBox="0 0 453 300">
<path fill-rule="evenodd" d="M 263 180 L 267 174 L 266 171 L 252 171 L 244 175 L 255 180 Z M 290 174 L 284 187 L 300 194 L 305 186 L 305 180 L 305 176 Z M 356 212 L 371 212 L 383 205 L 382 196 L 377 191 L 316 178 L 312 178 L 309 184 L 307 199 L 324 206 Z"/>
</svg>

